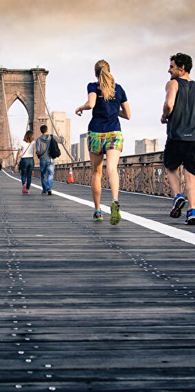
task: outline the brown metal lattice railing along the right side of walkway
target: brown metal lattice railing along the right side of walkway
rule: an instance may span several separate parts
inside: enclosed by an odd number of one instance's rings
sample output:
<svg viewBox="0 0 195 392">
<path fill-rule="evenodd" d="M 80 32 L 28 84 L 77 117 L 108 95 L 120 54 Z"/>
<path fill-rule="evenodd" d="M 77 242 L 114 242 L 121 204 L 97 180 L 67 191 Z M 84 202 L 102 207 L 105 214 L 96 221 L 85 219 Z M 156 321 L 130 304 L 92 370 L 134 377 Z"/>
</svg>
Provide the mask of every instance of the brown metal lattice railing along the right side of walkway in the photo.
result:
<svg viewBox="0 0 195 392">
<path fill-rule="evenodd" d="M 73 179 L 76 184 L 91 185 L 92 167 L 90 161 L 56 164 L 54 179 L 67 182 L 70 166 L 73 168 Z M 118 171 L 120 190 L 148 193 L 150 195 L 172 195 L 167 171 L 163 166 L 163 151 L 120 157 Z M 35 168 L 34 172 L 36 177 L 40 177 L 38 168 Z M 182 170 L 180 174 L 184 191 L 185 183 Z M 104 160 L 103 165 L 102 187 L 109 188 L 106 160 Z"/>
</svg>

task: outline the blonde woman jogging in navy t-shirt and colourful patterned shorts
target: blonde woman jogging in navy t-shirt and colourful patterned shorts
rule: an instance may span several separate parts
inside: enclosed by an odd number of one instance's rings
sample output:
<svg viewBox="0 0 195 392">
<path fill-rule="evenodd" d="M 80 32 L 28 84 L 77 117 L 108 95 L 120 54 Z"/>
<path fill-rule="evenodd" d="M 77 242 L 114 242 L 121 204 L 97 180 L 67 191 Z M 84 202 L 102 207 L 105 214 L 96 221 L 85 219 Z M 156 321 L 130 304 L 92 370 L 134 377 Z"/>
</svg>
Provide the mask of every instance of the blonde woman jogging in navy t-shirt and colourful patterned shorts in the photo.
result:
<svg viewBox="0 0 195 392">
<path fill-rule="evenodd" d="M 93 168 L 91 188 L 95 210 L 93 220 L 102 220 L 100 198 L 102 192 L 102 166 L 106 154 L 106 170 L 111 186 L 111 225 L 116 225 L 121 219 L 119 213 L 119 175 L 117 164 L 122 152 L 123 137 L 118 117 L 130 119 L 130 108 L 124 89 L 115 83 L 110 74 L 110 66 L 100 60 L 95 64 L 95 76 L 98 82 L 87 86 L 88 100 L 76 109 L 78 116 L 83 110 L 93 109 L 92 119 L 89 122 L 87 144 L 91 165 Z M 121 109 L 120 109 L 121 108 Z"/>
</svg>

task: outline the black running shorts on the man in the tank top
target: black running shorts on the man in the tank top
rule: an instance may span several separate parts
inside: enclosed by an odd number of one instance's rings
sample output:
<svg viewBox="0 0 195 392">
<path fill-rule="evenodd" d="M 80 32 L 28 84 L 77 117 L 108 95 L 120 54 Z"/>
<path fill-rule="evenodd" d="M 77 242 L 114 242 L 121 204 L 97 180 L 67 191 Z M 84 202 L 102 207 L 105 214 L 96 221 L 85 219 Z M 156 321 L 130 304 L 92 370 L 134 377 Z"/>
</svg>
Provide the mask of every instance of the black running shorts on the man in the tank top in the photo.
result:
<svg viewBox="0 0 195 392">
<path fill-rule="evenodd" d="M 189 173 L 195 175 L 195 141 L 168 139 L 165 144 L 164 165 L 170 170 L 183 165 Z"/>
</svg>

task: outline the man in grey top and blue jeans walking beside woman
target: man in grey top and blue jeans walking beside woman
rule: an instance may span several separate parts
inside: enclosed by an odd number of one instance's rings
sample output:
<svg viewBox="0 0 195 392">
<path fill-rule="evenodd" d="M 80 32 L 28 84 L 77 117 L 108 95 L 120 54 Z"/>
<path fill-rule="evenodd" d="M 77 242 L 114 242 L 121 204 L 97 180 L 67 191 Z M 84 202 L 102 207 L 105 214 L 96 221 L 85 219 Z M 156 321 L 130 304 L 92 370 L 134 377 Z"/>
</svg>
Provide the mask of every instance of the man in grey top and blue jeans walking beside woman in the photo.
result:
<svg viewBox="0 0 195 392">
<path fill-rule="evenodd" d="M 47 125 L 43 124 L 40 127 L 42 135 L 36 139 L 36 155 L 40 160 L 40 171 L 41 171 L 41 184 L 42 184 L 42 195 L 50 195 L 54 182 L 54 168 L 55 160 L 51 157 L 51 142 L 56 140 L 57 143 L 63 143 L 64 138 L 56 135 L 50 135 L 47 129 Z"/>
</svg>

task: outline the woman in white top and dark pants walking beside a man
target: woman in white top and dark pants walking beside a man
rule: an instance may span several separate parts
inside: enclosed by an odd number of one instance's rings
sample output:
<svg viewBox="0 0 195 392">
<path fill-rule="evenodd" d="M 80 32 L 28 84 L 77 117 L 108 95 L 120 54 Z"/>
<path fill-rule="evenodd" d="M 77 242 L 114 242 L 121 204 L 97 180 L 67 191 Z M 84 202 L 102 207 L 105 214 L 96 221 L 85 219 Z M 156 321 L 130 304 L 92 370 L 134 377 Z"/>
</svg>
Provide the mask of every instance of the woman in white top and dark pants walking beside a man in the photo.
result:
<svg viewBox="0 0 195 392">
<path fill-rule="evenodd" d="M 30 184 L 34 170 L 34 144 L 32 131 L 27 131 L 16 155 L 15 165 L 18 164 L 19 157 L 21 157 L 20 169 L 23 195 L 30 195 Z"/>
</svg>

